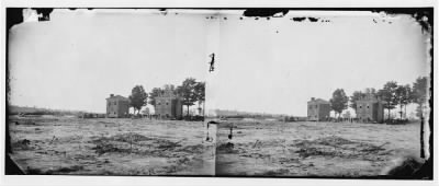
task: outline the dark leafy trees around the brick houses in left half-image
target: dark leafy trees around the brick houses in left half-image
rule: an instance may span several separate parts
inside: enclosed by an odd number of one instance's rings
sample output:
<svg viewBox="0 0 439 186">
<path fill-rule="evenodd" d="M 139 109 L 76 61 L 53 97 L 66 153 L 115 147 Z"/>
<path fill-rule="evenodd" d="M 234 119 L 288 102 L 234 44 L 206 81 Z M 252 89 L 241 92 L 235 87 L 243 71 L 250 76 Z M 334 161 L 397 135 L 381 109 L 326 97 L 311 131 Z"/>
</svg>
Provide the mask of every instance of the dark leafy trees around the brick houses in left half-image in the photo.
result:
<svg viewBox="0 0 439 186">
<path fill-rule="evenodd" d="M 148 103 L 156 106 L 156 100 L 165 92 L 170 92 L 181 97 L 182 105 L 187 106 L 187 116 L 189 116 L 189 107 L 198 103 L 199 111 L 201 111 L 201 104 L 205 101 L 205 82 L 199 82 L 193 78 L 187 78 L 181 85 L 177 88 L 173 84 L 165 84 L 162 88 L 154 88 L 147 93 L 143 85 L 136 85 L 133 88 L 130 95 L 130 106 L 134 108 L 134 114 L 139 114 L 142 107 Z"/>
</svg>

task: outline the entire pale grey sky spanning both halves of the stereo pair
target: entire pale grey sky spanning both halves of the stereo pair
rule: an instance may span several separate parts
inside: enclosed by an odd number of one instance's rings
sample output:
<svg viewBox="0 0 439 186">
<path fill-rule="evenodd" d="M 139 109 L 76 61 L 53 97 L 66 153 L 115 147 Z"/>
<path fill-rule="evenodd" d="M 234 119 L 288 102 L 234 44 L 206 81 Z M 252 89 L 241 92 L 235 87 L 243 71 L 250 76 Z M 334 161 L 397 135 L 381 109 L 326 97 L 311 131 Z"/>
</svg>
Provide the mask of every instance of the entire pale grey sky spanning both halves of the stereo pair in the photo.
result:
<svg viewBox="0 0 439 186">
<path fill-rule="evenodd" d="M 429 74 L 429 36 L 406 15 L 290 11 L 241 20 L 241 13 L 55 10 L 48 22 L 29 16 L 10 30 L 10 103 L 105 112 L 111 93 L 128 96 L 136 84 L 149 92 L 193 77 L 206 81 L 207 109 L 306 116 L 311 97 L 329 100 L 336 89 L 351 95 Z M 209 73 L 212 53 L 215 71 Z"/>
</svg>

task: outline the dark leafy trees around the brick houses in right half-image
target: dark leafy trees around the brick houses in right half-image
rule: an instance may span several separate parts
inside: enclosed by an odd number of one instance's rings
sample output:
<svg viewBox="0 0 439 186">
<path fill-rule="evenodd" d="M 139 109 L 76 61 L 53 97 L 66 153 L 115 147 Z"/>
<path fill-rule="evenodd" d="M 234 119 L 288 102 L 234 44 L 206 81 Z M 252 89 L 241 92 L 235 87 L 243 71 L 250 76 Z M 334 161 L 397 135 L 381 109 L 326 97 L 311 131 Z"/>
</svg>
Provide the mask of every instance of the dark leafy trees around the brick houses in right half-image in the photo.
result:
<svg viewBox="0 0 439 186">
<path fill-rule="evenodd" d="M 391 118 L 391 111 L 398 106 L 399 118 L 403 118 L 403 113 L 406 114 L 406 107 L 408 104 L 417 104 L 418 116 L 423 117 L 423 107 L 428 101 L 427 97 L 428 79 L 427 77 L 419 77 L 416 81 L 410 84 L 398 84 L 396 81 L 386 82 L 382 89 L 375 90 L 368 88 L 363 92 L 354 91 L 350 97 L 345 93 L 344 89 L 337 89 L 333 93 L 333 97 L 329 100 L 331 109 L 336 116 L 340 117 L 341 113 L 349 107 L 357 112 L 357 102 L 363 98 L 368 94 L 372 94 L 376 98 L 383 102 L 383 107 L 387 109 L 387 119 Z M 348 103 L 350 104 L 348 105 Z M 404 112 L 403 112 L 404 108 Z"/>
</svg>

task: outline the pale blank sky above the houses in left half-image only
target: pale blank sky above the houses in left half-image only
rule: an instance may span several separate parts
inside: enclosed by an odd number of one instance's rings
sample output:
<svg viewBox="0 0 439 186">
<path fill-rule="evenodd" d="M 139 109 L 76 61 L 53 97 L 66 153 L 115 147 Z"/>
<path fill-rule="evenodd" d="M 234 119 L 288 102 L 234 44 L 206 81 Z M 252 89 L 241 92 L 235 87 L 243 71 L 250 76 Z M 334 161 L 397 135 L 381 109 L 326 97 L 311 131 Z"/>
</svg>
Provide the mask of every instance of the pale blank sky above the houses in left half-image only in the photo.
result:
<svg viewBox="0 0 439 186">
<path fill-rule="evenodd" d="M 127 97 L 137 84 L 204 81 L 209 24 L 201 14 L 55 9 L 10 31 L 10 103 L 103 113 L 110 94 Z"/>
</svg>

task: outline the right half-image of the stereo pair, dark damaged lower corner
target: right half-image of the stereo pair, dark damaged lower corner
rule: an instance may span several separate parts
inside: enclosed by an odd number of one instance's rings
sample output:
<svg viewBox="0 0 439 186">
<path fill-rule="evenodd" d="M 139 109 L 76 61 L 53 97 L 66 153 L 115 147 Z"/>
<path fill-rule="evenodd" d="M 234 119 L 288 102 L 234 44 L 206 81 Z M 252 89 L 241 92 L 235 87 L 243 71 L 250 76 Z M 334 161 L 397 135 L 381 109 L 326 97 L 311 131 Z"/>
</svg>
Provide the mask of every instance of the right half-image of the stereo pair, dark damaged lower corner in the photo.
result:
<svg viewBox="0 0 439 186">
<path fill-rule="evenodd" d="M 219 19 L 206 86 L 215 175 L 424 177 L 430 18 L 270 11 Z"/>
</svg>

